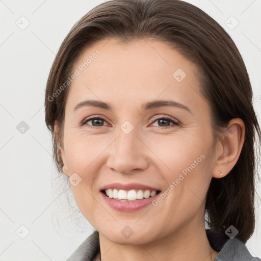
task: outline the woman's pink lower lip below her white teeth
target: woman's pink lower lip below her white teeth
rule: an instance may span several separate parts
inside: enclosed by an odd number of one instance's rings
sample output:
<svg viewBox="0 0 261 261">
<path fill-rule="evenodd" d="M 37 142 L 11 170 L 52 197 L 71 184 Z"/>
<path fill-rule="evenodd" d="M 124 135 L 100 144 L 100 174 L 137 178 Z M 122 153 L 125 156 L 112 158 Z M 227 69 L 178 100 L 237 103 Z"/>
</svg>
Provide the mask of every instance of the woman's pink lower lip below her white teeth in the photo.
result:
<svg viewBox="0 0 261 261">
<path fill-rule="evenodd" d="M 122 212 L 132 212 L 140 210 L 141 208 L 150 204 L 155 198 L 159 196 L 160 193 L 154 195 L 153 197 L 137 199 L 134 201 L 121 201 L 114 198 L 107 197 L 104 193 L 100 192 L 102 198 L 107 202 L 107 204 L 114 208 L 115 210 Z"/>
</svg>

